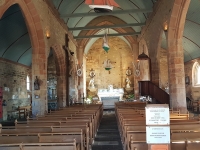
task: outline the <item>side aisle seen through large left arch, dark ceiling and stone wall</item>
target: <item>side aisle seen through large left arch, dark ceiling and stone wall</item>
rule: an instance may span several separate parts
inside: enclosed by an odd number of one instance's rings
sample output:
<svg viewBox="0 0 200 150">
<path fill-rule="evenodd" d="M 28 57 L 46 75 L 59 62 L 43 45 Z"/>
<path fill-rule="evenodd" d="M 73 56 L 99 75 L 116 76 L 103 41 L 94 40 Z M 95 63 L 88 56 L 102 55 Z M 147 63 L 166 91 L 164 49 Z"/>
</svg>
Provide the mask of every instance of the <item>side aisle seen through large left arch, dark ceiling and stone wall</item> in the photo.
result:
<svg viewBox="0 0 200 150">
<path fill-rule="evenodd" d="M 6 103 L 3 120 L 12 120 L 19 115 L 11 111 L 17 111 L 18 107 L 30 109 L 32 102 L 32 88 L 27 89 L 27 76 L 32 77 L 32 45 L 19 4 L 10 5 L 0 16 L 0 87 Z"/>
</svg>

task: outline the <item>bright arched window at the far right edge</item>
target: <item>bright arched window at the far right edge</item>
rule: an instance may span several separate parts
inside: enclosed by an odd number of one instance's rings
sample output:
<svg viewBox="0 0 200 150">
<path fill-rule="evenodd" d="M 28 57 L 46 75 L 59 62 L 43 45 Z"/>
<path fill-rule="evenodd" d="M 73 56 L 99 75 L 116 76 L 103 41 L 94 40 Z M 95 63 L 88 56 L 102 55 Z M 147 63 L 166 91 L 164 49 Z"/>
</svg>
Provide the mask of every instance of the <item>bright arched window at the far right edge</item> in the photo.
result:
<svg viewBox="0 0 200 150">
<path fill-rule="evenodd" d="M 195 62 L 192 68 L 192 84 L 200 87 L 200 65 Z"/>
</svg>

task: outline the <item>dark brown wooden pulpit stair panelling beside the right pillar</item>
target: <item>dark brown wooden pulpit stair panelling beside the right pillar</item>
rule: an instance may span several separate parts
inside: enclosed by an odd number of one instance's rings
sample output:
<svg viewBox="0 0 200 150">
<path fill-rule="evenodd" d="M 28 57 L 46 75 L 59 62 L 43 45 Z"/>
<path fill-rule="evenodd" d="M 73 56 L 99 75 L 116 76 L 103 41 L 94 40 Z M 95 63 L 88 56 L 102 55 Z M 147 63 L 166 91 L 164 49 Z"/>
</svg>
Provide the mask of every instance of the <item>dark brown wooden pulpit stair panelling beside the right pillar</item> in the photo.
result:
<svg viewBox="0 0 200 150">
<path fill-rule="evenodd" d="M 158 103 L 170 104 L 169 94 L 151 81 L 139 81 L 139 92 L 141 96 L 150 95 L 152 98 L 155 98 Z"/>
</svg>

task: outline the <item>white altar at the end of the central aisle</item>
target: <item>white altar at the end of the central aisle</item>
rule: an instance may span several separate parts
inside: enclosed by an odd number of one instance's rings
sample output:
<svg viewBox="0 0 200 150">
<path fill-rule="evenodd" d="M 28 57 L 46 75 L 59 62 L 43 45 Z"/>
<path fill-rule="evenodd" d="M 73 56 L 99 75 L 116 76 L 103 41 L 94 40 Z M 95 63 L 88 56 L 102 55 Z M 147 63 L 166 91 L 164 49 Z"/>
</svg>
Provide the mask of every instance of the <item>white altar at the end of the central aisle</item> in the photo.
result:
<svg viewBox="0 0 200 150">
<path fill-rule="evenodd" d="M 114 108 L 115 102 L 123 100 L 124 89 L 98 89 L 97 95 L 103 103 L 104 109 Z"/>
</svg>

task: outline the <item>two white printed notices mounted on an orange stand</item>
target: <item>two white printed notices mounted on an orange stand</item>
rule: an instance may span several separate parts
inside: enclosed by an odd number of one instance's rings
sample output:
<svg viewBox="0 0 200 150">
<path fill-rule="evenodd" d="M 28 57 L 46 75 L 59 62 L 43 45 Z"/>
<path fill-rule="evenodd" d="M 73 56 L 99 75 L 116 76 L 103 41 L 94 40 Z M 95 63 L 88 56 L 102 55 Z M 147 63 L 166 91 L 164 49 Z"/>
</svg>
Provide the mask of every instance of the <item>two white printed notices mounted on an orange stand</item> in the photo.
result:
<svg viewBox="0 0 200 150">
<path fill-rule="evenodd" d="M 167 104 L 149 104 L 146 111 L 146 142 L 149 150 L 170 149 L 170 113 Z"/>
</svg>

